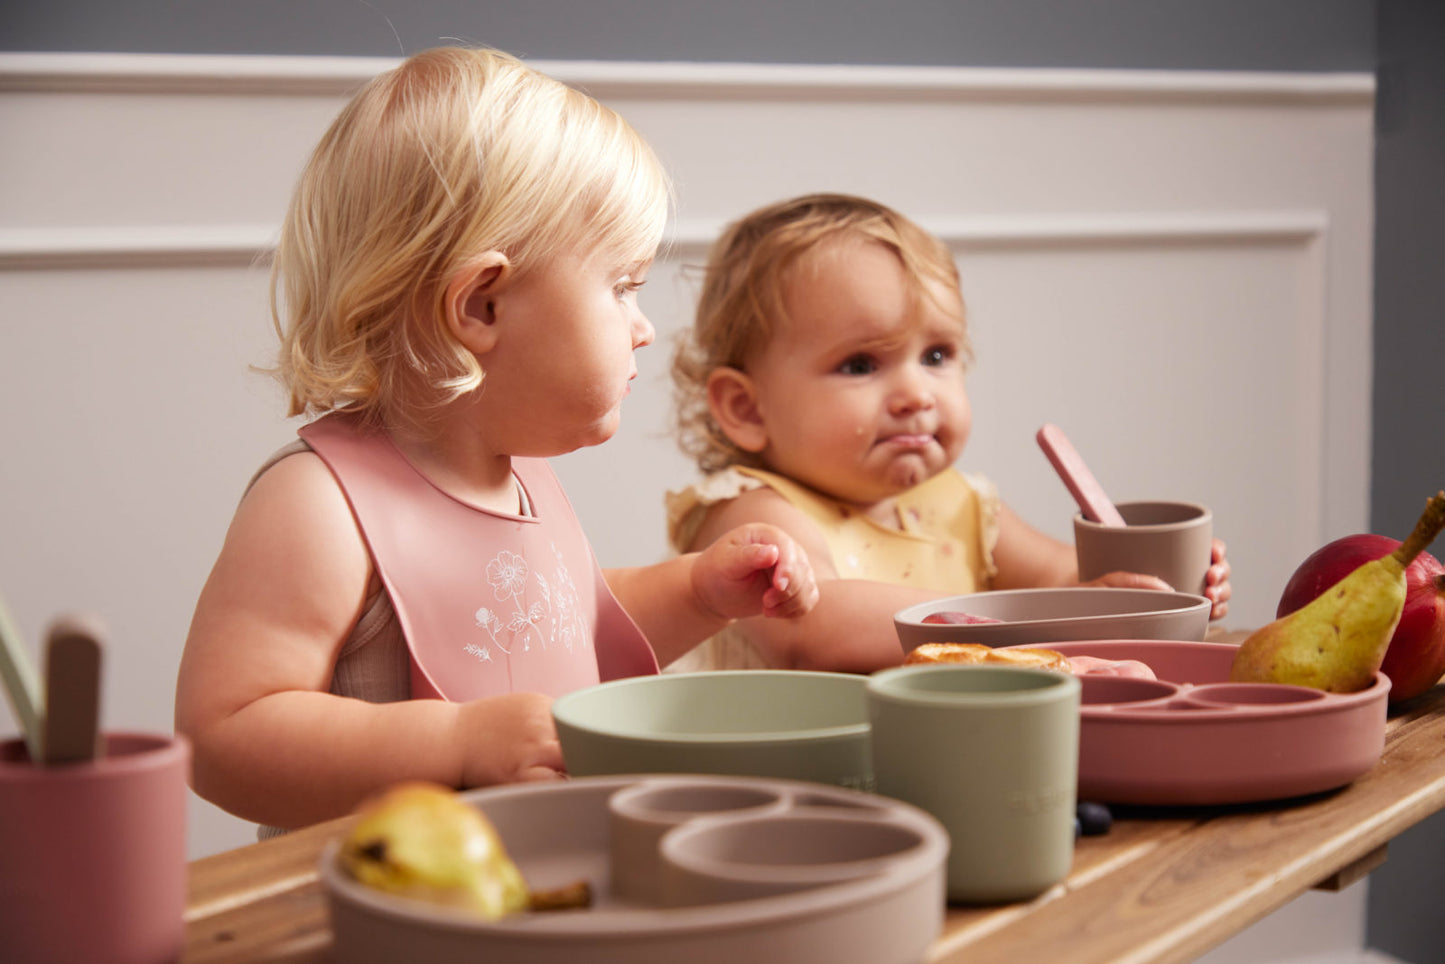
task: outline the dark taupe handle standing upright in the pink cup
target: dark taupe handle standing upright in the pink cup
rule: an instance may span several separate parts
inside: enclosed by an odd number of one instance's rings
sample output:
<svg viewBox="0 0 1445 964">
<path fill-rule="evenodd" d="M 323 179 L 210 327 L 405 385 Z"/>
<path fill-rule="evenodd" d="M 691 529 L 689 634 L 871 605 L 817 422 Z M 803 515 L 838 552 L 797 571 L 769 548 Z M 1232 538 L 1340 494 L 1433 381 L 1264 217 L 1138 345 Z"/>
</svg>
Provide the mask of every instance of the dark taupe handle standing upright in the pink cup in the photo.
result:
<svg viewBox="0 0 1445 964">
<path fill-rule="evenodd" d="M 45 656 L 45 762 L 95 759 L 100 737 L 100 632 L 62 617 L 51 627 Z"/>
</svg>

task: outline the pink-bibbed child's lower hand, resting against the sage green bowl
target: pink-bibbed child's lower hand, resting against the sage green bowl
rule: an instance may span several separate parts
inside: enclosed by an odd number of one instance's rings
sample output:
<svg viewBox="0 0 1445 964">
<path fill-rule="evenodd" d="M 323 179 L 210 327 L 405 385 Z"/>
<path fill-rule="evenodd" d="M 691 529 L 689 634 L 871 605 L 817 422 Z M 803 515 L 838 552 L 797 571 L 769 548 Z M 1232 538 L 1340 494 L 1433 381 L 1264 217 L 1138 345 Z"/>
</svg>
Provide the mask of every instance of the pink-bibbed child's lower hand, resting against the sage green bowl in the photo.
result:
<svg viewBox="0 0 1445 964">
<path fill-rule="evenodd" d="M 509 692 L 464 702 L 457 714 L 462 788 L 556 780 L 566 775 L 552 697 Z"/>
</svg>

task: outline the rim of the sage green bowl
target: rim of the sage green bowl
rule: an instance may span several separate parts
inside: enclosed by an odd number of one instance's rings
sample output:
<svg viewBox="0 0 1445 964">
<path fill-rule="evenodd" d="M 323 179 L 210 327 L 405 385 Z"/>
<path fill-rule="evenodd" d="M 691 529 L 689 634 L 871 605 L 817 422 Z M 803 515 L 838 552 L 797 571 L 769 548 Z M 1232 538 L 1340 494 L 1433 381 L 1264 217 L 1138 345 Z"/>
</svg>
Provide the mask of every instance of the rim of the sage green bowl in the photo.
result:
<svg viewBox="0 0 1445 964">
<path fill-rule="evenodd" d="M 621 743 L 646 743 L 646 744 L 707 744 L 707 746 L 743 746 L 743 744 L 785 744 L 785 743 L 828 743 L 838 740 L 855 740 L 858 737 L 866 737 L 871 731 L 871 724 L 867 720 L 866 710 L 864 718 L 860 723 L 844 723 L 831 727 L 811 727 L 806 730 L 753 730 L 746 733 L 733 731 L 712 731 L 712 733 L 659 733 L 649 731 L 640 733 L 636 730 L 618 730 L 616 727 L 603 727 L 595 723 L 587 723 L 577 717 L 575 704 L 581 702 L 588 697 L 595 697 L 595 694 L 603 689 L 626 689 L 630 687 L 642 685 L 672 685 L 670 679 L 712 679 L 712 681 L 727 681 L 740 676 L 767 676 L 777 679 L 819 679 L 825 678 L 829 681 L 850 681 L 847 685 L 857 688 L 860 700 L 864 702 L 860 705 L 866 707 L 867 695 L 867 676 L 858 673 L 841 673 L 841 672 L 827 672 L 815 669 L 707 669 L 698 672 L 686 673 L 653 673 L 649 676 L 626 676 L 623 679 L 610 679 L 595 687 L 584 687 L 582 689 L 574 689 L 572 692 L 564 694 L 552 701 L 552 720 L 561 727 L 569 727 L 578 733 L 588 733 L 592 736 L 607 737 L 608 740 L 616 740 Z M 725 685 L 720 684 L 720 685 Z"/>
</svg>

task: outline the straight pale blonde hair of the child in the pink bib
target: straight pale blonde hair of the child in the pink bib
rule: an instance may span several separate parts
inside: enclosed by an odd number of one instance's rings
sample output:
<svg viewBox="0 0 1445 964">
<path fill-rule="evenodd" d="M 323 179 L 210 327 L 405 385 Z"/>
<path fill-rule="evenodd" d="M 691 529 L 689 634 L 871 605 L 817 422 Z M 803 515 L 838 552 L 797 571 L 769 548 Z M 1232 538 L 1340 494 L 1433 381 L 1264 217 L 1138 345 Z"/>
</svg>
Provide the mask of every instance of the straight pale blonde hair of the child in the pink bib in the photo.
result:
<svg viewBox="0 0 1445 964">
<path fill-rule="evenodd" d="M 444 322 L 471 259 L 500 251 L 516 276 L 582 244 L 646 260 L 670 207 L 647 143 L 581 91 L 499 51 L 407 58 L 337 116 L 286 214 L 270 304 L 288 415 L 422 425 L 484 379 Z"/>
</svg>

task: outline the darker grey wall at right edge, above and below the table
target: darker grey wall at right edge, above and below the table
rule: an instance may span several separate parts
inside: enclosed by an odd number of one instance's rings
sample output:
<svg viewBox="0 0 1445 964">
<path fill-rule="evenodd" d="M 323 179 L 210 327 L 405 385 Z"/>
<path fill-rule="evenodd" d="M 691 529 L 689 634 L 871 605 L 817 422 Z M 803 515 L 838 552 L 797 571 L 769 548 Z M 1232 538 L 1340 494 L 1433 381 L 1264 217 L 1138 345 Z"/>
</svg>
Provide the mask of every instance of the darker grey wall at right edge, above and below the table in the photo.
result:
<svg viewBox="0 0 1445 964">
<path fill-rule="evenodd" d="M 1380 0 L 1370 528 L 1402 538 L 1445 487 L 1445 3 Z M 1435 555 L 1442 542 L 1436 541 Z M 1390 843 L 1370 874 L 1367 941 L 1445 960 L 1429 898 L 1445 887 L 1445 814 Z"/>
</svg>

